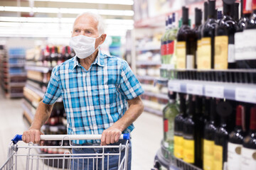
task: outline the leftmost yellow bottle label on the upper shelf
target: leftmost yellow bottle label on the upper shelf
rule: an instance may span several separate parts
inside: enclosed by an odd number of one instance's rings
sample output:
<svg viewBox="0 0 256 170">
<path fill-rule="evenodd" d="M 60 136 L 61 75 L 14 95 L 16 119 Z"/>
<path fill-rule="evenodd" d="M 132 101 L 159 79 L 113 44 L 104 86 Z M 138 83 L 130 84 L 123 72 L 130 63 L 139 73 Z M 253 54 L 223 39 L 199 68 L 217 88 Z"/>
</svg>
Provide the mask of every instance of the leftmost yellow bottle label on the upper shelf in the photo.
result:
<svg viewBox="0 0 256 170">
<path fill-rule="evenodd" d="M 176 45 L 177 55 L 177 69 L 186 69 L 186 42 L 177 42 Z"/>
</svg>

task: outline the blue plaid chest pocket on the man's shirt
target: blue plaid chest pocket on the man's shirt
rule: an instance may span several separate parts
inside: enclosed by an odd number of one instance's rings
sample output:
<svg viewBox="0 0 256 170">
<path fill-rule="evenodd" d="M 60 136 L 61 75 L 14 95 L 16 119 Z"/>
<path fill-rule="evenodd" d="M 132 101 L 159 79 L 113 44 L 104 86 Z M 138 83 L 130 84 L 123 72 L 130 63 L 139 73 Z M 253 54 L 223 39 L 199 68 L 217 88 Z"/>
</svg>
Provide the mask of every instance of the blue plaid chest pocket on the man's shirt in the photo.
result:
<svg viewBox="0 0 256 170">
<path fill-rule="evenodd" d="M 114 86 L 114 84 L 105 84 L 98 86 L 97 89 L 92 89 L 92 100 L 97 100 L 95 103 L 101 106 L 112 106 L 117 101 L 116 86 Z"/>
</svg>

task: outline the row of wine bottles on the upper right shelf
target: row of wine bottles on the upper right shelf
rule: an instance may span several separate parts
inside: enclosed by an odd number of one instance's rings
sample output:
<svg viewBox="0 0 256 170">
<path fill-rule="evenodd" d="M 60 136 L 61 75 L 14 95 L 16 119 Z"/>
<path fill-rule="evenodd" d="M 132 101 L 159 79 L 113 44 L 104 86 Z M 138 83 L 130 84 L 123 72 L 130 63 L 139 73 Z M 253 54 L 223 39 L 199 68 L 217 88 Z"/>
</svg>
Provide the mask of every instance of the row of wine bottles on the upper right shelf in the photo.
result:
<svg viewBox="0 0 256 170">
<path fill-rule="evenodd" d="M 183 6 L 178 32 L 174 24 L 170 25 L 176 18 L 166 20 L 166 33 L 161 39 L 162 64 L 172 64 L 171 69 L 256 68 L 256 0 L 240 4 L 223 1 L 223 13 L 215 9 L 215 0 L 205 2 L 204 23 L 202 19 L 201 9 L 195 8 L 195 28 L 191 28 L 188 8 Z"/>
</svg>

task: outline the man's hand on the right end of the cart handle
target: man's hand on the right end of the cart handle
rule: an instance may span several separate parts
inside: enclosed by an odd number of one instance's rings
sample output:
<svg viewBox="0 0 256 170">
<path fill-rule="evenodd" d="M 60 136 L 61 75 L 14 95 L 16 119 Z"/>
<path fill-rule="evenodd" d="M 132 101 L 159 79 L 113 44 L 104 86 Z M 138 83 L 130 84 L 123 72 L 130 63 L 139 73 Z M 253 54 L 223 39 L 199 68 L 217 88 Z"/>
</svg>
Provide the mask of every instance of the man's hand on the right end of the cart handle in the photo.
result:
<svg viewBox="0 0 256 170">
<path fill-rule="evenodd" d="M 122 135 L 121 130 L 110 127 L 102 132 L 101 144 L 109 145 L 119 141 L 119 137 Z"/>
</svg>

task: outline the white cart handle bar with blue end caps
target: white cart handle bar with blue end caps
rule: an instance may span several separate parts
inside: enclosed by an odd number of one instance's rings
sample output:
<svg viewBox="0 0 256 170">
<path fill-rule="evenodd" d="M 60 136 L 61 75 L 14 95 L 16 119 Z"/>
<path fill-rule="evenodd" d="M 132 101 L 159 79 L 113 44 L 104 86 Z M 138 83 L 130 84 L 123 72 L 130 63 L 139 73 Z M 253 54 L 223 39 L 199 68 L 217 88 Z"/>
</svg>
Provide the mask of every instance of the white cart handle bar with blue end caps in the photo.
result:
<svg viewBox="0 0 256 170">
<path fill-rule="evenodd" d="M 41 140 L 100 140 L 102 135 L 40 135 Z M 129 133 L 124 133 L 119 140 L 130 140 Z M 16 144 L 22 140 L 22 135 L 16 135 L 11 141 Z"/>
</svg>

